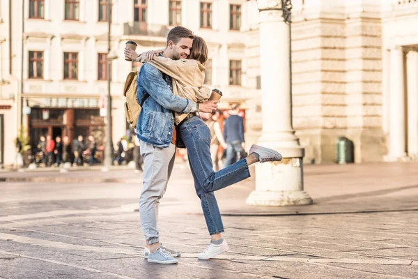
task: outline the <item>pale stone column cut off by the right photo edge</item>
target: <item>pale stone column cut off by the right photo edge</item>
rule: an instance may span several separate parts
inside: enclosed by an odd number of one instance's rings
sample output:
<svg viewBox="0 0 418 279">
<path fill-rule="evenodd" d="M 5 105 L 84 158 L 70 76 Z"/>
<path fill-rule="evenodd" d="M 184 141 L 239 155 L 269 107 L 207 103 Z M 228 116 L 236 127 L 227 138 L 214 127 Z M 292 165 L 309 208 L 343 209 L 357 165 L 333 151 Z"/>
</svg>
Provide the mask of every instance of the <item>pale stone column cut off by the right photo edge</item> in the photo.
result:
<svg viewBox="0 0 418 279">
<path fill-rule="evenodd" d="M 418 158 L 418 52 L 406 54 L 408 100 L 408 156 Z"/>
</svg>

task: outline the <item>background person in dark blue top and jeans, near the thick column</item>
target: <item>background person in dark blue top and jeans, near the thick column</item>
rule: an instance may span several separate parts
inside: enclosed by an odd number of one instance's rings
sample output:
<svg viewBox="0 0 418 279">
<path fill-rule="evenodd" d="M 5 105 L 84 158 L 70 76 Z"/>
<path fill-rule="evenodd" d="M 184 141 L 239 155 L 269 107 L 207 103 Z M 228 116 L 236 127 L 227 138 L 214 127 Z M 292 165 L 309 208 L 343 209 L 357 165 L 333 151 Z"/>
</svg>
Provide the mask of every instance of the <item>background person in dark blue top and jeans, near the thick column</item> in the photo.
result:
<svg viewBox="0 0 418 279">
<path fill-rule="evenodd" d="M 240 112 L 240 106 L 238 104 L 233 104 L 229 111 L 231 116 L 229 116 L 224 123 L 224 139 L 226 144 L 228 144 L 224 167 L 228 167 L 235 163 L 237 153 L 244 151 L 245 149 L 244 119 L 242 119 L 241 116 L 238 116 L 238 112 Z"/>
</svg>

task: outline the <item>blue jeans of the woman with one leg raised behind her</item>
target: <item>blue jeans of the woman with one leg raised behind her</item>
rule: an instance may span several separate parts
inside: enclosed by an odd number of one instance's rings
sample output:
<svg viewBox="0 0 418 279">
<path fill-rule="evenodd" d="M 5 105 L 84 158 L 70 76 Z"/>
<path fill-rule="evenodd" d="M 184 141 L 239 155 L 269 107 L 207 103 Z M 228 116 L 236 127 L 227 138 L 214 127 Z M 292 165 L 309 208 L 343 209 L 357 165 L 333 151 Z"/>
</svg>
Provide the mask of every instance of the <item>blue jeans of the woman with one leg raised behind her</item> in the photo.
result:
<svg viewBox="0 0 418 279">
<path fill-rule="evenodd" d="M 210 158 L 210 130 L 199 116 L 180 123 L 178 133 L 187 149 L 194 188 L 201 199 L 209 234 L 224 232 L 221 213 L 213 192 L 247 179 L 250 176 L 247 160 L 239 160 L 219 172 L 214 172 Z"/>
</svg>

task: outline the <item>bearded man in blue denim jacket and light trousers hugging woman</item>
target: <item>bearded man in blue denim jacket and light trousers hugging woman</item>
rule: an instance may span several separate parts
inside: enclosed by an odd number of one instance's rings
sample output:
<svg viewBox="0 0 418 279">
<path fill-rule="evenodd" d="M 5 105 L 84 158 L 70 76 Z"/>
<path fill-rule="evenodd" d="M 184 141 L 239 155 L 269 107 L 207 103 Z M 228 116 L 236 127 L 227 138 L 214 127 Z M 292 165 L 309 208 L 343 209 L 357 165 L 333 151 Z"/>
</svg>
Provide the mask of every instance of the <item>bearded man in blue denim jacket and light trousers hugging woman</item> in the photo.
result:
<svg viewBox="0 0 418 279">
<path fill-rule="evenodd" d="M 167 36 L 163 56 L 185 59 L 190 53 L 193 33 L 185 27 L 174 27 Z M 134 60 L 137 54 L 125 49 L 125 56 Z M 143 103 L 137 122 L 141 155 L 144 157 L 144 187 L 139 202 L 141 227 L 146 237 L 145 257 L 148 262 L 176 264 L 172 256 L 180 253 L 164 248 L 157 231 L 158 205 L 167 188 L 176 154 L 176 129 L 173 112 L 212 112 L 217 101 L 194 103 L 192 100 L 173 95 L 171 77 L 144 63 L 139 71 L 137 100 Z M 148 97 L 149 96 L 149 97 Z"/>
</svg>

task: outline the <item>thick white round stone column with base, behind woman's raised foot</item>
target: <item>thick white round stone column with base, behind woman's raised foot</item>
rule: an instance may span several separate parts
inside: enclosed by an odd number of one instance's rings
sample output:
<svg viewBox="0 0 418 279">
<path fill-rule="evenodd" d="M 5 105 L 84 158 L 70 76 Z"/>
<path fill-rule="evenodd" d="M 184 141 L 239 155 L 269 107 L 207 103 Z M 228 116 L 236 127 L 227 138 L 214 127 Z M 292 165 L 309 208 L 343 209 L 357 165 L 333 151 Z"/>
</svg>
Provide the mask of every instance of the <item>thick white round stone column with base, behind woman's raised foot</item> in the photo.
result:
<svg viewBox="0 0 418 279">
<path fill-rule="evenodd" d="M 292 128 L 290 26 L 280 0 L 258 0 L 260 10 L 263 130 L 258 144 L 279 151 L 281 162 L 256 165 L 256 190 L 247 204 L 287 206 L 311 204 L 303 190 L 304 149 Z"/>
</svg>

